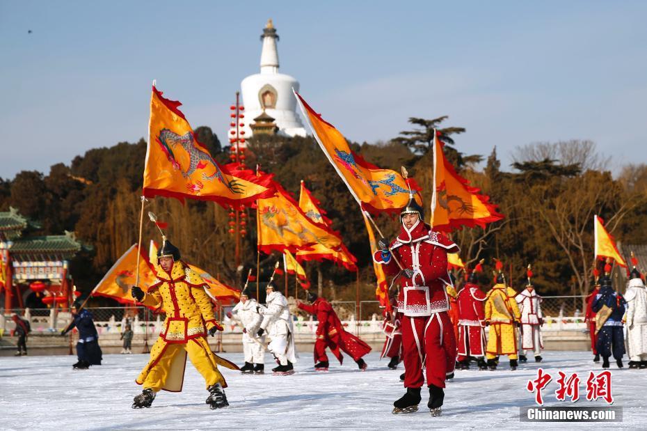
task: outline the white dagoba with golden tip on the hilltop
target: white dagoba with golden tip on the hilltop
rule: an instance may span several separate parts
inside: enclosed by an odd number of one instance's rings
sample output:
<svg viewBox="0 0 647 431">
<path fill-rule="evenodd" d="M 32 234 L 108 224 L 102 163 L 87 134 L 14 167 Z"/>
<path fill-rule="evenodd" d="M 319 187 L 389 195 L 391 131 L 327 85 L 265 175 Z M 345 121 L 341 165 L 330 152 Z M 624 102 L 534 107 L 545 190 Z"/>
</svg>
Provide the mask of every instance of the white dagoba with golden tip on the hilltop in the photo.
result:
<svg viewBox="0 0 647 431">
<path fill-rule="evenodd" d="M 254 118 L 263 111 L 274 118 L 278 134 L 305 136 L 305 128 L 296 114 L 296 99 L 292 93 L 292 88 L 298 91 L 298 81 L 278 72 L 278 34 L 271 19 L 263 29 L 261 40 L 261 72 L 250 75 L 241 82 L 246 119 L 243 136 L 253 136 L 249 123 L 253 123 Z"/>
</svg>

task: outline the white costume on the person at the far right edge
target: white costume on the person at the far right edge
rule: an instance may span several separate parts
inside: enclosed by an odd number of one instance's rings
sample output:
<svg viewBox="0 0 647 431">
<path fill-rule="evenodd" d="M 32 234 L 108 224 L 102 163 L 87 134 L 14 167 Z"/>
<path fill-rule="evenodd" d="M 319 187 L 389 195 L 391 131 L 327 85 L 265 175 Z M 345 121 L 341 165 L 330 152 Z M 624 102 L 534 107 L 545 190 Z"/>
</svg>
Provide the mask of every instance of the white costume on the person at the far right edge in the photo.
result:
<svg viewBox="0 0 647 431">
<path fill-rule="evenodd" d="M 629 360 L 647 361 L 647 288 L 641 279 L 629 281 L 625 301 Z"/>
</svg>

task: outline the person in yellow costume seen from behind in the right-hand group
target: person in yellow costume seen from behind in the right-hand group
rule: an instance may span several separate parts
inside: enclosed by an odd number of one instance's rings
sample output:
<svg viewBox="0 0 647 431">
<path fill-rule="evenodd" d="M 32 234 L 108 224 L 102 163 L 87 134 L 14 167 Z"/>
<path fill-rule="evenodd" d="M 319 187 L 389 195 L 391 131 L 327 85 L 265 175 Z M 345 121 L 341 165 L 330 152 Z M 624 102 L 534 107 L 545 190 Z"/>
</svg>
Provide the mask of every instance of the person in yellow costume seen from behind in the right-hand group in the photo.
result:
<svg viewBox="0 0 647 431">
<path fill-rule="evenodd" d="M 485 321 L 490 327 L 486 358 L 488 368 L 497 369 L 497 356 L 506 354 L 510 359 L 510 369 L 517 369 L 517 336 L 521 314 L 515 297 L 517 292 L 506 285 L 501 270 L 495 279 L 495 285 L 488 292 L 485 303 Z"/>
</svg>

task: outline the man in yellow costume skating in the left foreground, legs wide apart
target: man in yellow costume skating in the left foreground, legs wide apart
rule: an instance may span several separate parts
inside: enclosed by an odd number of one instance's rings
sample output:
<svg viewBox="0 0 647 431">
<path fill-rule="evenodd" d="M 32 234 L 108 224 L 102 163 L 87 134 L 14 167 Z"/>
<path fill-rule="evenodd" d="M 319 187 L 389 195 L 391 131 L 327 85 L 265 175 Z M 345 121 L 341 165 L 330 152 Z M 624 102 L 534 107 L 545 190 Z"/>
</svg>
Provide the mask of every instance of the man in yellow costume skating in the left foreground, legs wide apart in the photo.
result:
<svg viewBox="0 0 647 431">
<path fill-rule="evenodd" d="M 179 249 L 163 237 L 155 265 L 157 282 L 147 292 L 133 286 L 132 296 L 146 306 L 163 308 L 166 320 L 159 338 L 150 351 L 150 362 L 136 379 L 144 389 L 134 398 L 134 409 L 150 407 L 160 389 L 182 391 L 186 355 L 205 378 L 211 409 L 227 407 L 224 388 L 227 383 L 217 364 L 238 367 L 211 352 L 207 333 L 222 331 L 216 322 L 205 281 L 180 260 Z"/>
</svg>

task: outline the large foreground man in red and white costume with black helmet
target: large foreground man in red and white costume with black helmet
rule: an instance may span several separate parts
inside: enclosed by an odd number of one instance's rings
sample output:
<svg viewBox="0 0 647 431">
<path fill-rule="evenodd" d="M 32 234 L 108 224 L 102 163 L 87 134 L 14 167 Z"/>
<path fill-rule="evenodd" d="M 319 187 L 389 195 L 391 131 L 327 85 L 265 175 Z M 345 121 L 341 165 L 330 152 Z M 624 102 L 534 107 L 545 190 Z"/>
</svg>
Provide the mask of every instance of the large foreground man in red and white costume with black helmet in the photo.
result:
<svg viewBox="0 0 647 431">
<path fill-rule="evenodd" d="M 404 315 L 402 344 L 407 391 L 393 403 L 393 413 L 417 411 L 422 399 L 424 366 L 429 386 L 427 406 L 432 416 L 439 416 L 445 378 L 453 376 L 456 361 L 456 338 L 447 313 L 446 286 L 451 285 L 447 253 L 458 252 L 458 246 L 424 224 L 422 207 L 413 196 L 401 210 L 400 219 L 398 237 L 391 244 L 384 238 L 379 240 L 380 251 L 374 255 L 375 262 L 384 265 L 386 274 L 398 274 L 398 310 Z"/>
</svg>

